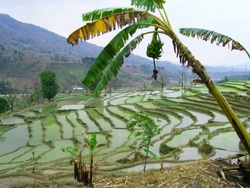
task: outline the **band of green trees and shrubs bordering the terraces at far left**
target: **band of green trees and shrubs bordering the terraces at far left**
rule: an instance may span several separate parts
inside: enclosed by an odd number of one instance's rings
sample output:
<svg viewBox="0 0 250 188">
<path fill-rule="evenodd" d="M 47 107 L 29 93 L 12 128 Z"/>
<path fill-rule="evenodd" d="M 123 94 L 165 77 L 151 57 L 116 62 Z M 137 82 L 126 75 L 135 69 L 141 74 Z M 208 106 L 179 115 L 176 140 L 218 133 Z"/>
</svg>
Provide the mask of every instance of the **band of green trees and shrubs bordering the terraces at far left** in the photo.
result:
<svg viewBox="0 0 250 188">
<path fill-rule="evenodd" d="M 0 81 L 0 113 L 22 109 L 33 104 L 40 104 L 47 99 L 49 102 L 56 96 L 59 86 L 56 83 L 56 73 L 44 70 L 40 74 L 40 82 L 29 88 L 26 84 L 17 89 L 10 81 Z"/>
</svg>

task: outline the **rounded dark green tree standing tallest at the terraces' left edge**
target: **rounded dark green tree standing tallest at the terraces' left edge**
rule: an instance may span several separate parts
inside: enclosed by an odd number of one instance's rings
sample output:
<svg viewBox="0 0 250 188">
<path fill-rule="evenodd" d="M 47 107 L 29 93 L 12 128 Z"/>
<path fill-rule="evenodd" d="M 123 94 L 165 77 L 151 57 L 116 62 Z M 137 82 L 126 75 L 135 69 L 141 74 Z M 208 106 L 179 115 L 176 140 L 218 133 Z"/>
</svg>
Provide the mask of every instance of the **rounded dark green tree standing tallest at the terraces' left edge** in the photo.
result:
<svg viewBox="0 0 250 188">
<path fill-rule="evenodd" d="M 40 80 L 43 98 L 50 101 L 56 96 L 59 90 L 59 86 L 56 83 L 56 74 L 51 70 L 44 70 L 40 74 Z"/>
</svg>

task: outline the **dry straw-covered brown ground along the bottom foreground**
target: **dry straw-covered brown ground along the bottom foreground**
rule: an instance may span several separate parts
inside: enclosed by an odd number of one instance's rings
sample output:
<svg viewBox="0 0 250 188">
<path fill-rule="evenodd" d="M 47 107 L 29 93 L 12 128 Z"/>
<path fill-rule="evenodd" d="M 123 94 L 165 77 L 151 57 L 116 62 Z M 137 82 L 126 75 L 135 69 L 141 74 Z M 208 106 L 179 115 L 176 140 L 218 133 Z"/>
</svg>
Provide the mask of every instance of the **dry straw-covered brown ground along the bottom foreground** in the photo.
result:
<svg viewBox="0 0 250 188">
<path fill-rule="evenodd" d="M 244 180 L 243 175 L 238 170 L 217 171 L 229 163 L 220 160 L 202 160 L 190 163 L 183 163 L 162 170 L 146 170 L 146 172 L 97 172 L 94 175 L 93 187 L 96 188 L 139 188 L 139 187 L 168 187 L 168 188 L 184 188 L 184 187 L 250 187 L 250 183 Z M 231 165 L 232 167 L 232 165 Z M 225 174 L 225 177 L 223 177 Z M 222 175 L 222 176 L 221 176 Z M 41 173 L 36 179 L 19 177 L 16 182 L 8 182 L 9 178 L 1 178 L 2 183 L 5 182 L 6 187 L 87 187 L 82 183 L 78 183 L 72 174 L 68 176 L 53 176 L 48 178 Z M 12 181 L 15 177 L 12 177 Z M 9 184 L 8 184 L 9 183 Z M 1 187 L 5 187 L 1 184 Z"/>
</svg>

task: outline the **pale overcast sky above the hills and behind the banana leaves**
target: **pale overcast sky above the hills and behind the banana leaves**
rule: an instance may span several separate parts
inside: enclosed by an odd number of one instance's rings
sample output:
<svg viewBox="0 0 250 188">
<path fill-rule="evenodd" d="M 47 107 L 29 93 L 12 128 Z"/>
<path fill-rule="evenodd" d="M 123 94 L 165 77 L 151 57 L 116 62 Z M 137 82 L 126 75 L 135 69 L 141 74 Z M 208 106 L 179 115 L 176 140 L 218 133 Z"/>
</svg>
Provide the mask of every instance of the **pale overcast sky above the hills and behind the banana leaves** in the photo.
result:
<svg viewBox="0 0 250 188">
<path fill-rule="evenodd" d="M 128 6 L 130 0 L 0 0 L 0 13 L 68 37 L 84 24 L 81 20 L 82 13 L 99 8 Z M 214 30 L 232 37 L 250 51 L 250 0 L 166 0 L 165 8 L 172 27 L 203 65 L 250 64 L 244 52 L 231 52 L 227 47 L 218 47 L 179 34 L 179 28 L 182 27 Z M 88 42 L 105 46 L 112 36 L 112 33 L 105 34 Z M 171 41 L 166 37 L 162 39 L 165 47 L 161 60 L 178 62 Z M 149 42 L 150 39 L 146 38 L 133 53 L 146 56 Z"/>
</svg>

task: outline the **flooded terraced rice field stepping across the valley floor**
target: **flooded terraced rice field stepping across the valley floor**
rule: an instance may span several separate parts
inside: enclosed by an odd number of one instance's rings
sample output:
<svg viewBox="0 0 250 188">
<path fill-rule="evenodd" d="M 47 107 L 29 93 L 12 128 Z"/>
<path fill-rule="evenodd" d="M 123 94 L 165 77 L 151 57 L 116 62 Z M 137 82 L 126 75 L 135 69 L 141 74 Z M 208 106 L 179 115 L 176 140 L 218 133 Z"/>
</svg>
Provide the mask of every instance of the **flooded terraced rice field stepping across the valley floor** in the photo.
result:
<svg viewBox="0 0 250 188">
<path fill-rule="evenodd" d="M 249 88 L 249 81 L 220 85 L 248 131 Z M 82 131 L 89 135 L 96 133 L 98 143 L 104 144 L 94 154 L 98 170 L 142 170 L 140 165 L 143 161 L 132 162 L 138 156 L 140 140 L 133 136 L 134 132 L 126 129 L 130 117 L 140 110 L 161 120 L 162 132 L 153 138 L 151 150 L 160 156 L 165 166 L 240 152 L 239 138 L 212 96 L 204 86 L 193 89 L 200 94 L 182 97 L 180 90 L 120 92 L 95 100 L 83 98 L 74 102 L 71 99 L 75 96 L 69 96 L 55 101 L 56 104 L 48 104 L 46 108 L 34 107 L 11 117 L 2 117 L 0 130 L 6 140 L 0 142 L 0 176 L 32 169 L 34 165 L 44 172 L 62 169 L 64 173 L 72 172 L 73 167 L 69 165 L 71 156 L 61 148 L 83 142 Z M 213 146 L 214 152 L 210 156 L 198 152 L 203 142 Z M 162 154 L 161 145 L 176 150 Z M 83 155 L 88 163 L 87 150 Z M 151 160 L 149 163 L 149 168 L 155 168 L 155 163 L 160 161 Z"/>
</svg>

